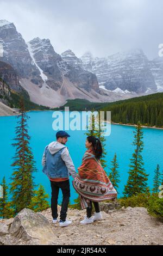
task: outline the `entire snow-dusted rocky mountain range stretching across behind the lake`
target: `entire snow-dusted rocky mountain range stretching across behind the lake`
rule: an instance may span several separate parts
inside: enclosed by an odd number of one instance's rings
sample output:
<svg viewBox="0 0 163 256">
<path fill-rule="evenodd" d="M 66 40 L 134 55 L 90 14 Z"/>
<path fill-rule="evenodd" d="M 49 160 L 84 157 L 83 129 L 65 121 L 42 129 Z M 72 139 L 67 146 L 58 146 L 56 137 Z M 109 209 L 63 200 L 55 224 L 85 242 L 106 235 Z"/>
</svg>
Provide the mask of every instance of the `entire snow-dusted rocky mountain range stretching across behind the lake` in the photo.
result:
<svg viewBox="0 0 163 256">
<path fill-rule="evenodd" d="M 0 21 L 0 61 L 16 72 L 17 91 L 23 87 L 30 100 L 50 107 L 67 99 L 109 102 L 163 90 L 163 62 L 149 62 L 142 50 L 106 58 L 93 58 L 90 52 L 78 58 L 70 49 L 60 55 L 49 39 L 25 42 L 14 23 L 6 20 Z M 11 87 L 13 83 L 12 79 Z"/>
</svg>

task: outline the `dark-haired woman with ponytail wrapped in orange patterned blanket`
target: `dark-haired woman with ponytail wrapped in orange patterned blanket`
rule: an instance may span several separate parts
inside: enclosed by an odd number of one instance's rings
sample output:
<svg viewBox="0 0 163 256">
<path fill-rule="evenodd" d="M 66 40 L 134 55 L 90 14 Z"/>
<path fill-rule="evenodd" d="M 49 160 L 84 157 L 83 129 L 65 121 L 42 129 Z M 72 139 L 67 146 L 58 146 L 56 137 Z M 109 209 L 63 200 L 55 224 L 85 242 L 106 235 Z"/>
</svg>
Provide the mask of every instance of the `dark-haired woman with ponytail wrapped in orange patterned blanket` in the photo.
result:
<svg viewBox="0 0 163 256">
<path fill-rule="evenodd" d="M 82 209 L 86 208 L 86 216 L 81 224 L 89 224 L 102 220 L 98 202 L 117 197 L 108 176 L 101 166 L 102 145 L 98 138 L 89 136 L 86 139 L 87 148 L 82 165 L 78 168 L 79 174 L 73 180 L 73 187 L 79 193 Z M 92 202 L 95 206 L 95 216 L 92 217 Z"/>
</svg>

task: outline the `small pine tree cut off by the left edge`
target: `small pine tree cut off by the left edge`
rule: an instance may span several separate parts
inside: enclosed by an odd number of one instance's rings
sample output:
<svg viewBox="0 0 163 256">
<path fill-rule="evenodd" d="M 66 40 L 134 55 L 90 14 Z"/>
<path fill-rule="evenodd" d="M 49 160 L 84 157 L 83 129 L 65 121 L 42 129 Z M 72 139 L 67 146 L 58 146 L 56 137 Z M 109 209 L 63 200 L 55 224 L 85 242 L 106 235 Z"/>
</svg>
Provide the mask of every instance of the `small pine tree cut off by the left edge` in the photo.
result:
<svg viewBox="0 0 163 256">
<path fill-rule="evenodd" d="M 8 200 L 8 186 L 5 181 L 5 177 L 1 184 L 3 188 L 2 198 L 0 198 L 0 217 L 11 218 L 14 216 L 14 210 L 11 208 L 11 203 Z"/>
</svg>

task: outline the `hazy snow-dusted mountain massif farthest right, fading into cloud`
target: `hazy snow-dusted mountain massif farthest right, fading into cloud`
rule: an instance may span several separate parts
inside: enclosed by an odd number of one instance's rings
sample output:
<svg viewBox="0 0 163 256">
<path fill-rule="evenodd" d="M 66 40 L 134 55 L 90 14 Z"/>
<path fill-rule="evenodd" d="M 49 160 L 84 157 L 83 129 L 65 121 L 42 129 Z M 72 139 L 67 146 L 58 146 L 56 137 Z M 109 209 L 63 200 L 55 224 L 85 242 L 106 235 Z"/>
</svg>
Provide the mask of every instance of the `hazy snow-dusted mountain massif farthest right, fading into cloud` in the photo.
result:
<svg viewBox="0 0 163 256">
<path fill-rule="evenodd" d="M 81 60 L 85 69 L 96 74 L 99 85 L 112 92 L 120 92 L 121 89 L 124 93 L 142 94 L 149 89 L 151 93 L 157 89 L 151 63 L 141 49 L 116 53 L 107 58 L 93 58 L 87 52 Z"/>
</svg>

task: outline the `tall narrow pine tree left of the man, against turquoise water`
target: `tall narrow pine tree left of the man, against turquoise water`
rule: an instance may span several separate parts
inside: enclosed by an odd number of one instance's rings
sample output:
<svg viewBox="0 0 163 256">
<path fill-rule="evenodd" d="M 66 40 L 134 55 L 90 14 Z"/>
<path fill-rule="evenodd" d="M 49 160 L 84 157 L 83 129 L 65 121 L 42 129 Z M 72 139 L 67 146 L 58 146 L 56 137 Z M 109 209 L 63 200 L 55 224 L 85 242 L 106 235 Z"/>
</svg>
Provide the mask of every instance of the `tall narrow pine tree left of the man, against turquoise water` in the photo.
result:
<svg viewBox="0 0 163 256">
<path fill-rule="evenodd" d="M 16 143 L 12 144 L 16 148 L 16 154 L 11 164 L 15 168 L 10 184 L 15 214 L 30 204 L 35 186 L 33 173 L 36 172 L 34 156 L 29 147 L 30 136 L 27 130 L 29 117 L 25 111 L 23 99 L 20 100 L 20 114 L 17 118 Z"/>
</svg>

